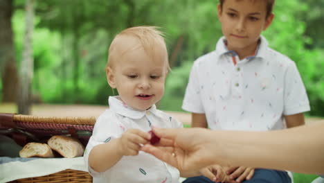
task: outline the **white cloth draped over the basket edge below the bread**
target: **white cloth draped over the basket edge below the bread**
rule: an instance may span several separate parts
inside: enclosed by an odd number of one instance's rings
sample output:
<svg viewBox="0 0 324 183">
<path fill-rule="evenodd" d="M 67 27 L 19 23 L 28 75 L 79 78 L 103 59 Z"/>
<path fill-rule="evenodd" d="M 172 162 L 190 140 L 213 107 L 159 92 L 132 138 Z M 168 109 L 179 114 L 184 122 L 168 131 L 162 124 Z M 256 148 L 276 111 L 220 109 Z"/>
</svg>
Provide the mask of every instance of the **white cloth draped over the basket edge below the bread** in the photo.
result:
<svg viewBox="0 0 324 183">
<path fill-rule="evenodd" d="M 75 158 L 21 158 L 0 157 L 0 182 L 28 177 L 39 177 L 72 169 L 86 171 L 83 157 Z"/>
</svg>

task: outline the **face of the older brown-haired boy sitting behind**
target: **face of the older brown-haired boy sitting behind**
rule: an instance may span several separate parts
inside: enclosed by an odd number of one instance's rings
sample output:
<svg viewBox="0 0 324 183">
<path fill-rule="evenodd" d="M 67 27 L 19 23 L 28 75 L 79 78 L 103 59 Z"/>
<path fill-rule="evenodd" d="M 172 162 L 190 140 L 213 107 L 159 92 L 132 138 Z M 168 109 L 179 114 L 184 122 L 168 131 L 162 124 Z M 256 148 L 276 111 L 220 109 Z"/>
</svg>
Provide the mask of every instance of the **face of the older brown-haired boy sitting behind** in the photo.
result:
<svg viewBox="0 0 324 183">
<path fill-rule="evenodd" d="M 266 19 L 265 0 L 226 0 L 218 17 L 230 50 L 255 46 L 260 34 L 271 24 L 273 15 Z"/>
</svg>

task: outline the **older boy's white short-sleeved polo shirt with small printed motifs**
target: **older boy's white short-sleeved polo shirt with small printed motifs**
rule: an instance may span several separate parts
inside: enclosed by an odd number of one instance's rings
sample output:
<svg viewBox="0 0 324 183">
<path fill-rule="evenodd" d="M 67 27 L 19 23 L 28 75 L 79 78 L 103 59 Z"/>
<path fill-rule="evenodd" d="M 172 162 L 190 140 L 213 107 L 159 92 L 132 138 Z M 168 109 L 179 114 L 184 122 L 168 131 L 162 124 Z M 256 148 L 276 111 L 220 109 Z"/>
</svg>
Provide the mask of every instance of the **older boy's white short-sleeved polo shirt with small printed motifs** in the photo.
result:
<svg viewBox="0 0 324 183">
<path fill-rule="evenodd" d="M 194 62 L 183 110 L 206 114 L 213 130 L 251 131 L 286 128 L 283 115 L 310 110 L 296 64 L 264 37 L 255 55 L 243 60 L 224 42 Z"/>
</svg>

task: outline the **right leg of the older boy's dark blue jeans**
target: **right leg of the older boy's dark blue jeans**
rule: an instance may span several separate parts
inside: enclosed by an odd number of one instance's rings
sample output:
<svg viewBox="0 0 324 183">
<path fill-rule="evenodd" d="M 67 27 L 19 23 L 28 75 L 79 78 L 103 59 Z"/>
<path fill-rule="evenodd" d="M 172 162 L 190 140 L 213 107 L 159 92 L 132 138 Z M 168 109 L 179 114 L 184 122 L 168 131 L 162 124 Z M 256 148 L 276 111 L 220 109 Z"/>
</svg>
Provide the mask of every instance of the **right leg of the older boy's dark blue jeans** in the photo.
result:
<svg viewBox="0 0 324 183">
<path fill-rule="evenodd" d="M 286 171 L 255 169 L 251 180 L 245 180 L 243 183 L 291 183 L 291 180 Z"/>
</svg>

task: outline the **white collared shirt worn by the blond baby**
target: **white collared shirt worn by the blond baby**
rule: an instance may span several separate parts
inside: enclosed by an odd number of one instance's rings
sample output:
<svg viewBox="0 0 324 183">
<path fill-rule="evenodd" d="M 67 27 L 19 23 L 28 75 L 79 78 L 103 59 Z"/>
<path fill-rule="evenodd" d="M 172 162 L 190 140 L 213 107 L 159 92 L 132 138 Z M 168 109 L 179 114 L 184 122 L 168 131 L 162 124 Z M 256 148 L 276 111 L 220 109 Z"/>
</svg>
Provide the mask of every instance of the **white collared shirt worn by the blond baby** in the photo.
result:
<svg viewBox="0 0 324 183">
<path fill-rule="evenodd" d="M 128 129 L 136 128 L 145 132 L 151 130 L 151 125 L 159 128 L 182 128 L 176 119 L 153 105 L 149 110 L 133 110 L 118 99 L 109 97 L 109 110 L 103 112 L 93 129 L 93 134 L 84 152 L 85 164 L 88 166 L 89 153 L 94 146 L 109 143 L 119 138 Z M 136 156 L 124 156 L 109 170 L 98 173 L 88 166 L 93 182 L 129 183 L 129 182 L 179 182 L 177 168 L 165 164 L 153 155 L 140 151 Z"/>
</svg>

